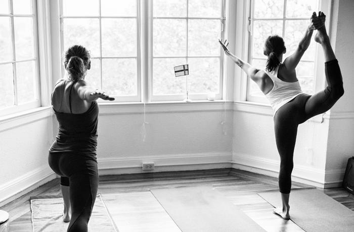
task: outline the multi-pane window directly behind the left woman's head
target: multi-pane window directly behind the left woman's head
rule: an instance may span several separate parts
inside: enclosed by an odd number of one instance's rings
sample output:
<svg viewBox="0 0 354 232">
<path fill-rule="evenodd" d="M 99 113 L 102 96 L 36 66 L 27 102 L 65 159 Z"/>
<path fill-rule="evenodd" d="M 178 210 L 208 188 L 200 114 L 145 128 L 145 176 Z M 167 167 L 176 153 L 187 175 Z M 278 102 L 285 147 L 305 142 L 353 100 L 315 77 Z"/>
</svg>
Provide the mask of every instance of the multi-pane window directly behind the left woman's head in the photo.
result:
<svg viewBox="0 0 354 232">
<path fill-rule="evenodd" d="M 86 47 L 91 70 L 85 79 L 117 101 L 140 101 L 138 1 L 61 0 L 60 19 L 63 59 L 70 46 Z"/>
</svg>

